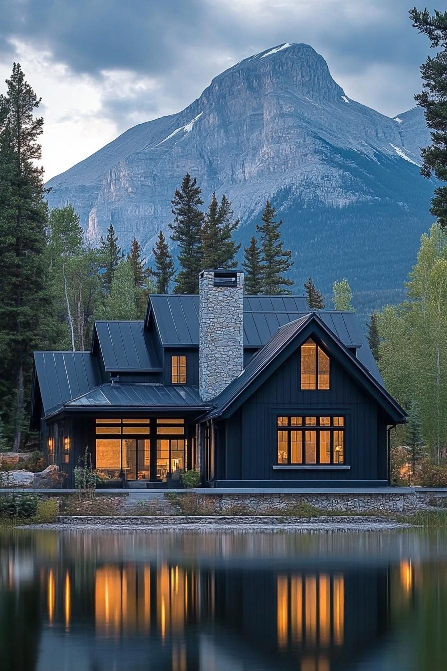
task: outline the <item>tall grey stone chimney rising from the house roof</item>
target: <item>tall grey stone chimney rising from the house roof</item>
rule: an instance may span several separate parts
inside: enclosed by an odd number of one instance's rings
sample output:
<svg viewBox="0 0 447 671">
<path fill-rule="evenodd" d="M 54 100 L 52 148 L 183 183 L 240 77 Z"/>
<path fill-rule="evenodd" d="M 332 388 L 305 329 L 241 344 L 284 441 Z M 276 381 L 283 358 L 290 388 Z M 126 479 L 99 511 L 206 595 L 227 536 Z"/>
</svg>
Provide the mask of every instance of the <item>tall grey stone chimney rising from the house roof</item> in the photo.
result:
<svg viewBox="0 0 447 671">
<path fill-rule="evenodd" d="M 199 274 L 199 391 L 214 399 L 244 367 L 244 274 L 202 270 Z"/>
</svg>

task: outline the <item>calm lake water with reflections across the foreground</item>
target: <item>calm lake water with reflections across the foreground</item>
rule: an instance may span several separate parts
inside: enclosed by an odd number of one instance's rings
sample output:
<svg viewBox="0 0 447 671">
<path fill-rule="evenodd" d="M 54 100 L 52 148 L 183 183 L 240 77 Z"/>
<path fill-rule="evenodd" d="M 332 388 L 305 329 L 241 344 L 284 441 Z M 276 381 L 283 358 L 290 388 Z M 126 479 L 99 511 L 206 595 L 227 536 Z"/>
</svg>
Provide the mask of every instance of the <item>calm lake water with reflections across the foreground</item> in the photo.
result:
<svg viewBox="0 0 447 671">
<path fill-rule="evenodd" d="M 447 668 L 447 535 L 0 536 L 1 671 Z"/>
</svg>

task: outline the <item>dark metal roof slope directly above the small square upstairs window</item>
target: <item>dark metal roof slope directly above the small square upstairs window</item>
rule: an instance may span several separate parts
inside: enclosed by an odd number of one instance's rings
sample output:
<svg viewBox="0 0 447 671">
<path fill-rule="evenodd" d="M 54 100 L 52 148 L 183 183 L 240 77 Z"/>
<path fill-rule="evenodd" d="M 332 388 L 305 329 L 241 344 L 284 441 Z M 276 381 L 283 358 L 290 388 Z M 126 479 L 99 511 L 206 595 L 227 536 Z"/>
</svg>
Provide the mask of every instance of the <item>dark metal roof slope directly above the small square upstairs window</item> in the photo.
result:
<svg viewBox="0 0 447 671">
<path fill-rule="evenodd" d="M 143 321 L 95 321 L 96 339 L 107 372 L 157 372 L 162 370 Z"/>
</svg>

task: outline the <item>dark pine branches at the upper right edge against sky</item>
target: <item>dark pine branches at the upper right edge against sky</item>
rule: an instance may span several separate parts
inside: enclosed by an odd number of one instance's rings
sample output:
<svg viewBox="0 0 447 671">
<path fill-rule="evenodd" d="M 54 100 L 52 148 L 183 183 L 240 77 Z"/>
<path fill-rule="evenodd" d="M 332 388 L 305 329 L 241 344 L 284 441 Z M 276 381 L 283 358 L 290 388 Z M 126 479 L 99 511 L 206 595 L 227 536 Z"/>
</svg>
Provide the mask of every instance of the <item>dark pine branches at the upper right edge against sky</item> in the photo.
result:
<svg viewBox="0 0 447 671">
<path fill-rule="evenodd" d="M 431 130 L 432 144 L 424 147 L 422 174 L 430 177 L 432 172 L 441 182 L 447 182 L 447 11 L 428 9 L 409 11 L 413 27 L 428 37 L 430 46 L 437 50 L 428 56 L 420 67 L 424 89 L 414 99 L 424 107 L 426 122 Z M 447 227 L 447 187 L 436 187 L 430 212 L 437 217 L 441 227 Z"/>
</svg>

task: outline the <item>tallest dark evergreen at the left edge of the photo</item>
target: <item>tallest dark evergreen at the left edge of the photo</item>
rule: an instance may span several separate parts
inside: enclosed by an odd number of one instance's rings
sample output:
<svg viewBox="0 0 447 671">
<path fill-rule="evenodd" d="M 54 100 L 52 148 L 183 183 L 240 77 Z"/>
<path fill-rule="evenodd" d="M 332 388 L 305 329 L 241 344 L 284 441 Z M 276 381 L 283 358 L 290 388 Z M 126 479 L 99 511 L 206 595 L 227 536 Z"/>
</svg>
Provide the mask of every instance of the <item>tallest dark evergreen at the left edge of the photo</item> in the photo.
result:
<svg viewBox="0 0 447 671">
<path fill-rule="evenodd" d="M 19 450 L 27 421 L 32 351 L 42 346 L 50 294 L 44 281 L 47 209 L 35 118 L 40 99 L 13 64 L 0 96 L 0 413 L 7 442 Z"/>
</svg>

